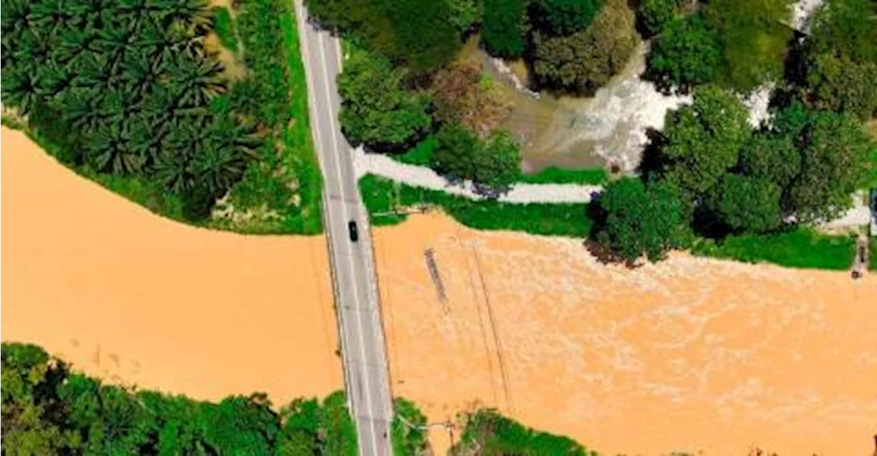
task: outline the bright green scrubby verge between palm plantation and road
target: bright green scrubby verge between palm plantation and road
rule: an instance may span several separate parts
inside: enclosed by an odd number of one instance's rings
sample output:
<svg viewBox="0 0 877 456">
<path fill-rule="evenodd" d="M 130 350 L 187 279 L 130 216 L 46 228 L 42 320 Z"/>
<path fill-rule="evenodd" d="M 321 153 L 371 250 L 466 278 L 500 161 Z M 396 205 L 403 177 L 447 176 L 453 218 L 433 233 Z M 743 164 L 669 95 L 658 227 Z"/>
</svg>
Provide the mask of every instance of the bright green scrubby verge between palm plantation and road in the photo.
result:
<svg viewBox="0 0 877 456">
<path fill-rule="evenodd" d="M 237 232 L 320 233 L 322 175 L 310 139 L 307 83 L 292 5 L 245 0 L 237 25 L 254 85 L 274 100 L 261 107 L 260 115 L 280 133 L 260 148 L 257 162 L 232 189 L 236 210 L 259 210 L 263 217 L 211 225 Z"/>
</svg>

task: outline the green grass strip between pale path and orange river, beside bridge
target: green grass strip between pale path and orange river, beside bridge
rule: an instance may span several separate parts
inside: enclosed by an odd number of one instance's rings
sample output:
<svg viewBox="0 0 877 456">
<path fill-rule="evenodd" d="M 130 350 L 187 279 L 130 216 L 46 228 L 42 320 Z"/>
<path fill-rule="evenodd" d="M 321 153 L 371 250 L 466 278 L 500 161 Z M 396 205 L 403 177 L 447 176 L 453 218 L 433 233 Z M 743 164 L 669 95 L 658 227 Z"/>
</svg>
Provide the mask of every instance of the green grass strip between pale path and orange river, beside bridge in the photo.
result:
<svg viewBox="0 0 877 456">
<path fill-rule="evenodd" d="M 461 224 L 478 230 L 511 230 L 531 234 L 585 237 L 593 222 L 584 204 L 510 204 L 493 200 L 474 201 L 442 191 L 420 189 L 374 175 L 360 179 L 360 192 L 372 223 L 399 224 L 405 208 L 437 206 Z"/>
</svg>

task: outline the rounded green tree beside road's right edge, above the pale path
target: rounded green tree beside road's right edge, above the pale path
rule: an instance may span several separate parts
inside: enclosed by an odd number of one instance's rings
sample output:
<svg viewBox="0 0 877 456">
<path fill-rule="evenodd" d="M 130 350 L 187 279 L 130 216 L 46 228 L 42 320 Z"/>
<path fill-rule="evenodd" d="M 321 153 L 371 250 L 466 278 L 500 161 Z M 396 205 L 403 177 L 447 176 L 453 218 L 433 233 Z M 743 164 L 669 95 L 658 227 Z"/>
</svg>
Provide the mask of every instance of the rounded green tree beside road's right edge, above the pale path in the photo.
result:
<svg viewBox="0 0 877 456">
<path fill-rule="evenodd" d="M 403 86 L 405 72 L 389 60 L 356 50 L 338 77 L 341 128 L 353 144 L 396 151 L 413 145 L 431 127 L 429 100 Z"/>
</svg>

